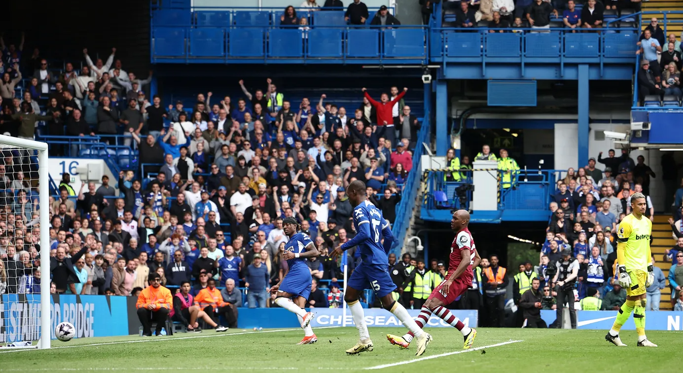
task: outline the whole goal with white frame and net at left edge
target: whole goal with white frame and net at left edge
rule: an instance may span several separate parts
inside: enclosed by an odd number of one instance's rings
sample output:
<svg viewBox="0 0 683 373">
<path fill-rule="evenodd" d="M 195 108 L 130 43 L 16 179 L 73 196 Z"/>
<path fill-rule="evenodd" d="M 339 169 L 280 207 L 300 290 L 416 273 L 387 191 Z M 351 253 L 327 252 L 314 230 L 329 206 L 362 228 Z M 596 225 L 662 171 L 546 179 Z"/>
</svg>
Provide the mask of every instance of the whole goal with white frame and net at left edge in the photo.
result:
<svg viewBox="0 0 683 373">
<path fill-rule="evenodd" d="M 0 346 L 3 348 L 50 347 L 47 148 L 46 143 L 0 135 Z"/>
</svg>

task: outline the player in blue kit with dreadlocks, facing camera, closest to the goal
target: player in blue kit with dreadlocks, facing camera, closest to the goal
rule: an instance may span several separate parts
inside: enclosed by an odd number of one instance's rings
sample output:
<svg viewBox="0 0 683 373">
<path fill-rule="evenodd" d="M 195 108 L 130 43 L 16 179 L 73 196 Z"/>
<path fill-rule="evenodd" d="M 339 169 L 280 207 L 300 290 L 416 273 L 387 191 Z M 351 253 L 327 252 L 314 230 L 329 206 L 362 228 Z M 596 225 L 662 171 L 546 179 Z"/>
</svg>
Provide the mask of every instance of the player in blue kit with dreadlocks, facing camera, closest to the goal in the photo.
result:
<svg viewBox="0 0 683 373">
<path fill-rule="evenodd" d="M 311 294 L 311 271 L 306 264 L 306 258 L 315 258 L 318 256 L 318 248 L 311 241 L 306 233 L 298 232 L 301 230 L 295 218 L 289 217 L 282 221 L 282 229 L 289 241 L 285 243 L 285 252 L 282 258 L 287 260 L 289 269 L 285 273 L 284 278 L 277 283 L 277 285 L 270 288 L 272 293 L 277 294 L 275 303 L 281 308 L 294 312 L 298 316 L 301 328 L 305 335 L 301 342 L 297 344 L 312 344 L 318 342 L 318 337 L 311 329 L 311 320 L 313 319 L 313 312 L 306 312 L 304 305 L 308 296 Z"/>
</svg>

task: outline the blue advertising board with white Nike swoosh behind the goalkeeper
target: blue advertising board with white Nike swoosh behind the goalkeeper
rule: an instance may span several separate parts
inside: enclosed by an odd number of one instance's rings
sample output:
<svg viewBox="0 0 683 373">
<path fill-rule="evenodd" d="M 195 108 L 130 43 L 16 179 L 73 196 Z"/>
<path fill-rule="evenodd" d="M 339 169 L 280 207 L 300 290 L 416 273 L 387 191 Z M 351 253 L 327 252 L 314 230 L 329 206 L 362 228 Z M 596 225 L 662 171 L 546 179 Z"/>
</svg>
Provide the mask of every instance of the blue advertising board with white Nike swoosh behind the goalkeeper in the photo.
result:
<svg viewBox="0 0 683 373">
<path fill-rule="evenodd" d="M 548 324 L 553 323 L 557 313 L 542 310 L 541 318 Z M 609 330 L 617 318 L 617 311 L 576 311 L 576 329 Z M 635 330 L 633 318 L 629 318 L 622 327 L 624 330 Z M 650 311 L 645 317 L 645 330 L 683 330 L 683 314 L 671 311 Z"/>
</svg>

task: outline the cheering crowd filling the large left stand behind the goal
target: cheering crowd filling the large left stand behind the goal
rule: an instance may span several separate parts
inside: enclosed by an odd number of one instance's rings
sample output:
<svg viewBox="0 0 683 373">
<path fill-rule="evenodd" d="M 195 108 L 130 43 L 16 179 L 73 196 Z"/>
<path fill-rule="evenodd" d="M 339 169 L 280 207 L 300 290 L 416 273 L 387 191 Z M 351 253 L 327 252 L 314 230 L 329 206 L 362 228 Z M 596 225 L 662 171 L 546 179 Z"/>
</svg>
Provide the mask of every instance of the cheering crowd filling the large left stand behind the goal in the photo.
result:
<svg viewBox="0 0 683 373">
<path fill-rule="evenodd" d="M 202 312 L 215 305 L 232 324 L 236 307 L 274 305 L 268 290 L 287 271 L 282 220 L 294 216 L 321 253 L 309 260 L 316 284 L 308 305 L 337 307 L 342 272 L 328 253 L 354 236 L 346 186 L 365 181 L 385 218 L 396 218 L 420 126 L 402 100 L 406 88 L 387 87 L 376 98 L 359 89 L 348 115 L 326 95 L 290 102 L 270 79 L 265 89 L 236 82 L 243 94 L 236 100 L 208 92 L 189 107 L 166 105 L 147 99 L 150 78 L 123 70 L 115 48 L 107 61 L 92 61 L 84 49 L 80 72 L 66 63 L 59 74 L 38 50 L 22 60 L 22 49 L 12 44 L 3 54 L 17 56 L 13 66 L 34 64 L 23 101 L 3 85 L 5 113 L 18 119 L 3 130 L 33 138 L 46 121 L 49 134 L 123 134 L 149 166 L 143 177 L 122 170 L 117 180 L 80 185 L 62 175 L 48 205 L 51 226 L 43 227 L 51 237 L 51 293 L 139 296 L 158 273 L 173 293 L 191 295 Z M 15 72 L 12 82 L 22 78 Z M 37 176 L 23 167 L 7 154 L 0 165 L 0 189 L 14 194 L 0 215 L 0 293 L 40 289 Z M 358 259 L 349 250 L 350 269 Z"/>
</svg>

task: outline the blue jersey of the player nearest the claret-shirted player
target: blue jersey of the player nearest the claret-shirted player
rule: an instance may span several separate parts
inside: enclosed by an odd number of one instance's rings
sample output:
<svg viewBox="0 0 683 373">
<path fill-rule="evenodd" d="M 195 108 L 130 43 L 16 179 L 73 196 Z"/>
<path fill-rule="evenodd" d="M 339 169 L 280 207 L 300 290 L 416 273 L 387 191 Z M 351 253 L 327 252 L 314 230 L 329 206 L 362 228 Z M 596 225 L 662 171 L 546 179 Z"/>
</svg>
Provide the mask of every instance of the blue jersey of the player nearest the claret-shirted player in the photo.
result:
<svg viewBox="0 0 683 373">
<path fill-rule="evenodd" d="M 386 265 L 389 263 L 387 252 L 382 246 L 382 230 L 389 224 L 382 217 L 382 211 L 373 205 L 369 200 L 364 200 L 360 205 L 353 209 L 353 225 L 356 232 L 360 226 L 368 224 L 370 226 L 370 236 L 363 242 L 358 243 L 363 263 Z"/>
</svg>

